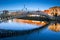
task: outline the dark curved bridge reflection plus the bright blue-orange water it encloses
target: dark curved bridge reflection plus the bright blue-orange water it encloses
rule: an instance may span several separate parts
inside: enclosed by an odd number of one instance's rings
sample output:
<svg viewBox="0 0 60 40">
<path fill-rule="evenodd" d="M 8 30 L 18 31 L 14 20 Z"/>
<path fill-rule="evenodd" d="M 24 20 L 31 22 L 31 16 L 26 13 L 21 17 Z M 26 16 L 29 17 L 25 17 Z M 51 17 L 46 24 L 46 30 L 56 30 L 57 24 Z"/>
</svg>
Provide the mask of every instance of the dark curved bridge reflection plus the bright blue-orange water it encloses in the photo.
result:
<svg viewBox="0 0 60 40">
<path fill-rule="evenodd" d="M 17 35 L 30 34 L 37 32 L 40 28 L 45 27 L 47 22 L 24 20 L 24 19 L 11 19 L 0 23 L 0 37 L 11 37 Z M 43 29 L 42 29 L 43 30 Z"/>
</svg>

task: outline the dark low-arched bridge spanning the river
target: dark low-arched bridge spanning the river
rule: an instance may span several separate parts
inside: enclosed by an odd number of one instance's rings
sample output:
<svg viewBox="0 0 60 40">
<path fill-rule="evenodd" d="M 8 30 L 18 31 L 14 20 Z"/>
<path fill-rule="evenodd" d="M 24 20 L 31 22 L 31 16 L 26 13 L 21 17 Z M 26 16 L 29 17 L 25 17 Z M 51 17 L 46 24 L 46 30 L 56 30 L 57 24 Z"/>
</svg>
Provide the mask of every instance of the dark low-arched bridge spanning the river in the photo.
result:
<svg viewBox="0 0 60 40">
<path fill-rule="evenodd" d="M 36 21 L 49 21 L 50 19 L 52 19 L 53 17 L 47 15 L 44 12 L 22 12 L 21 15 L 7 15 L 7 14 L 3 14 L 0 15 L 0 20 L 9 20 L 9 19 L 27 19 L 27 20 L 36 20 Z"/>
</svg>

